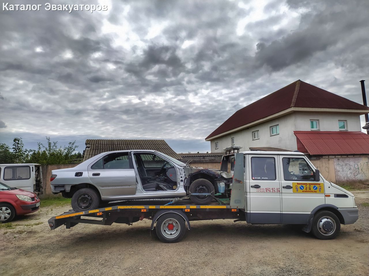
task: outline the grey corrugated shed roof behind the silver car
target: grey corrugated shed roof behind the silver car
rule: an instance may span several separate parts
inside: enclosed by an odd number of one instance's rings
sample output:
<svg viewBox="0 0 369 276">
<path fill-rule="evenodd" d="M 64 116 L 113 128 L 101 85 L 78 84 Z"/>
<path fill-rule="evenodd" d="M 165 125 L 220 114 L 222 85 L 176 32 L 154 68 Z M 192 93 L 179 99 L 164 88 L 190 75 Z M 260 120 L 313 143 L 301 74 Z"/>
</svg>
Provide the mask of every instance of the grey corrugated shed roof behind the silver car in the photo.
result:
<svg viewBox="0 0 369 276">
<path fill-rule="evenodd" d="M 107 151 L 125 151 L 130 149 L 152 149 L 169 155 L 175 159 L 182 159 L 164 141 L 159 139 L 87 139 L 83 161 Z"/>
</svg>

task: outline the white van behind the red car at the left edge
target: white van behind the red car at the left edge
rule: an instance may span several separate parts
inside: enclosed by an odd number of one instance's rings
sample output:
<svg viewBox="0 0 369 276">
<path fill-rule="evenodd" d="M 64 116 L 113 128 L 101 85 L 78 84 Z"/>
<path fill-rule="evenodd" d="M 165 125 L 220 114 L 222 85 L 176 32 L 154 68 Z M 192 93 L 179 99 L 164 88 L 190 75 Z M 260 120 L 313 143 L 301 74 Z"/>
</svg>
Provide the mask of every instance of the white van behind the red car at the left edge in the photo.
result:
<svg viewBox="0 0 369 276">
<path fill-rule="evenodd" d="M 42 194 L 42 170 L 40 164 L 0 164 L 0 182 Z"/>
</svg>

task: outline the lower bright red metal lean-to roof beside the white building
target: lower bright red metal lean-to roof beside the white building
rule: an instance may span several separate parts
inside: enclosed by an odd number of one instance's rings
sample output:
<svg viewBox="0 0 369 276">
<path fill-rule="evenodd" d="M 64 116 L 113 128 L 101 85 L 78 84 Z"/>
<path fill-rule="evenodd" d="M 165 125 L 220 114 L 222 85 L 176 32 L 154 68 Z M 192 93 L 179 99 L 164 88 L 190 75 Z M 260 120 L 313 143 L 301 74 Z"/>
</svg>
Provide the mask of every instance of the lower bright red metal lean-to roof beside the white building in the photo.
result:
<svg viewBox="0 0 369 276">
<path fill-rule="evenodd" d="M 361 131 L 294 131 L 297 149 L 310 155 L 369 154 L 369 135 Z"/>
</svg>

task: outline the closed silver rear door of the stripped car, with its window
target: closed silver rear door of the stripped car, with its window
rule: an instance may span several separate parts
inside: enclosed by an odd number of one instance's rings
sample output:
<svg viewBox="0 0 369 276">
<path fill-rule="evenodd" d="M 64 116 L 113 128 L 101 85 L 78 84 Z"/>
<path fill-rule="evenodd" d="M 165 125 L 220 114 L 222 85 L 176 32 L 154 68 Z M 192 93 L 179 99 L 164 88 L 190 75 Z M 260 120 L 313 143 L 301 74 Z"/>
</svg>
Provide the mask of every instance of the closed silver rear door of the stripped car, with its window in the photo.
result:
<svg viewBox="0 0 369 276">
<path fill-rule="evenodd" d="M 114 152 L 90 164 L 90 181 L 103 197 L 136 194 L 136 174 L 130 152 Z"/>
</svg>

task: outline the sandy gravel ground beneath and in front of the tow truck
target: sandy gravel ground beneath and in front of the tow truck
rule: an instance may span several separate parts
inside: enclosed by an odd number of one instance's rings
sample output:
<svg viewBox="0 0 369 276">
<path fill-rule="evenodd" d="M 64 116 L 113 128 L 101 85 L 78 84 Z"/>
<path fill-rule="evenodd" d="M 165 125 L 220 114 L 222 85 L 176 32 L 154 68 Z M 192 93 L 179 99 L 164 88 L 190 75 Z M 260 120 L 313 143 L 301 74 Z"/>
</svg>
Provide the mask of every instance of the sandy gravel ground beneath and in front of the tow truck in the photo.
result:
<svg viewBox="0 0 369 276">
<path fill-rule="evenodd" d="M 0 275 L 369 275 L 369 202 L 360 218 L 321 241 L 294 226 L 232 220 L 191 222 L 176 244 L 150 236 L 151 221 L 133 226 L 78 224 L 50 230 L 68 207 L 43 207 L 0 229 Z"/>
</svg>

